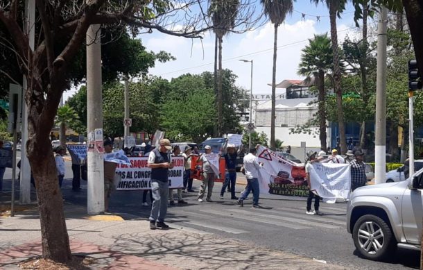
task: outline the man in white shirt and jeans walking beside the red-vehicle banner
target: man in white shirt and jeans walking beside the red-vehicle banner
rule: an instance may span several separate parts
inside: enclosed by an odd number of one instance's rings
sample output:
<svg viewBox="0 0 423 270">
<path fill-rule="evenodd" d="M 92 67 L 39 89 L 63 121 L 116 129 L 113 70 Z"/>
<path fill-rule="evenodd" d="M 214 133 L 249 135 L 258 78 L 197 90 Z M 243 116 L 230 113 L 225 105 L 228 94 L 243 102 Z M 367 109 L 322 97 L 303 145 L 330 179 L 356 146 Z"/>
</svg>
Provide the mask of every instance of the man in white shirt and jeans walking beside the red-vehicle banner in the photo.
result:
<svg viewBox="0 0 423 270">
<path fill-rule="evenodd" d="M 259 194 L 260 194 L 260 185 L 259 185 L 259 169 L 261 169 L 262 164 L 259 163 L 259 160 L 255 156 L 256 149 L 250 149 L 250 153 L 245 155 L 244 169 L 245 169 L 245 178 L 247 178 L 247 187 L 244 192 L 239 197 L 238 203 L 243 206 L 243 201 L 248 197 L 250 191 L 252 191 L 252 207 L 259 207 Z"/>
</svg>

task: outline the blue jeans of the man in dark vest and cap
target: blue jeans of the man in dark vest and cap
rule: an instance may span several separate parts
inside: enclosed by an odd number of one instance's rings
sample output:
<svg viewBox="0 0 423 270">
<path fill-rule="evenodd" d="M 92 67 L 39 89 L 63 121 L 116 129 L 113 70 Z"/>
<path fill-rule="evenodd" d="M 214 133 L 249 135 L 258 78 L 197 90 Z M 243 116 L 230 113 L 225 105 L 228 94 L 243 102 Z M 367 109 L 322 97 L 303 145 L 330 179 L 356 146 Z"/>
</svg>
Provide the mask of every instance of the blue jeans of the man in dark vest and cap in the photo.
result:
<svg viewBox="0 0 423 270">
<path fill-rule="evenodd" d="M 169 198 L 169 181 L 162 182 L 152 179 L 151 193 L 154 201 L 151 204 L 150 221 L 164 221 L 167 213 L 167 199 Z"/>
</svg>

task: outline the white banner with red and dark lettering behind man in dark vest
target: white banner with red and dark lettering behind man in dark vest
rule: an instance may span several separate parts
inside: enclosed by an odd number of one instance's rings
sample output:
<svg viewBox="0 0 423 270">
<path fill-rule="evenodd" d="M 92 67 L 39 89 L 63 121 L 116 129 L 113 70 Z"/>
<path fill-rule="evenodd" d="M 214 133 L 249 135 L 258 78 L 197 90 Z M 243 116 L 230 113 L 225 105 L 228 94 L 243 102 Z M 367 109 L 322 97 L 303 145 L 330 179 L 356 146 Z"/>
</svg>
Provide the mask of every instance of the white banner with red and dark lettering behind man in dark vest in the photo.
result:
<svg viewBox="0 0 423 270">
<path fill-rule="evenodd" d="M 151 169 L 147 167 L 148 157 L 128 158 L 130 164 L 117 164 L 116 174 L 121 180 L 117 190 L 137 190 L 151 188 Z M 183 187 L 184 158 L 172 157 L 175 164 L 169 169 L 169 188 Z"/>
</svg>

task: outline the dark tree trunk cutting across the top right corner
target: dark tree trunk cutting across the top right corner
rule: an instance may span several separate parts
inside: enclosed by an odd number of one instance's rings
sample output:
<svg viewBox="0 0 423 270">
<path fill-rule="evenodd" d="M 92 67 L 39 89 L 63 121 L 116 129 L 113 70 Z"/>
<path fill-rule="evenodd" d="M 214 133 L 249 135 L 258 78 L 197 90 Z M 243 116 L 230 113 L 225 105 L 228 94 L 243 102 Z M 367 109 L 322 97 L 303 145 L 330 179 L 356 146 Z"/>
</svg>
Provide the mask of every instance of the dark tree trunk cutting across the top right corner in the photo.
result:
<svg viewBox="0 0 423 270">
<path fill-rule="evenodd" d="M 423 3 L 421 0 L 404 0 L 402 3 L 406 10 L 415 58 L 417 59 L 420 71 L 423 71 Z"/>
</svg>

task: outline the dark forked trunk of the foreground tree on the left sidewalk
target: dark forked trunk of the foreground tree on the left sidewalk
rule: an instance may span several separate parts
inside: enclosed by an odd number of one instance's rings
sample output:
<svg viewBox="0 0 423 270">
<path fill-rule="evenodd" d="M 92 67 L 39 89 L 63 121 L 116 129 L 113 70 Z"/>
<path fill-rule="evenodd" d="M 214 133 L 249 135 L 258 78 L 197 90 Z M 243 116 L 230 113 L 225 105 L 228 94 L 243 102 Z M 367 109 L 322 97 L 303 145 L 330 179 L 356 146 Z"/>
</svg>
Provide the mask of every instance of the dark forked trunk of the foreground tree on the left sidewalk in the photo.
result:
<svg viewBox="0 0 423 270">
<path fill-rule="evenodd" d="M 40 74 L 37 73 L 37 68 L 34 67 L 33 69 L 28 76 L 28 78 L 33 78 L 33 83 L 28 85 L 37 85 L 35 81 L 40 79 L 36 76 L 36 74 Z M 60 86 L 60 82 L 64 82 L 62 76 L 66 72 L 64 68 L 55 67 L 54 69 L 52 76 L 55 76 L 55 80 L 51 80 L 51 85 L 53 85 L 51 87 L 56 85 L 56 88 L 49 90 L 49 98 L 45 101 L 40 101 L 40 98 L 35 98 L 36 94 L 33 94 L 40 93 L 40 90 L 31 90 L 30 88 L 26 90 L 25 100 L 28 105 L 27 149 L 28 160 L 35 178 L 35 185 L 37 186 L 42 256 L 55 262 L 67 262 L 71 259 L 71 249 L 64 219 L 62 192 L 60 191 L 55 160 L 49 140 L 49 133 L 53 127 L 60 96 L 64 90 L 64 87 Z M 40 102 L 44 105 L 42 113 L 40 113 Z"/>
</svg>

